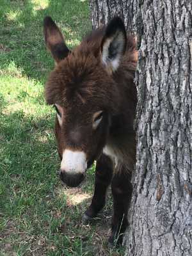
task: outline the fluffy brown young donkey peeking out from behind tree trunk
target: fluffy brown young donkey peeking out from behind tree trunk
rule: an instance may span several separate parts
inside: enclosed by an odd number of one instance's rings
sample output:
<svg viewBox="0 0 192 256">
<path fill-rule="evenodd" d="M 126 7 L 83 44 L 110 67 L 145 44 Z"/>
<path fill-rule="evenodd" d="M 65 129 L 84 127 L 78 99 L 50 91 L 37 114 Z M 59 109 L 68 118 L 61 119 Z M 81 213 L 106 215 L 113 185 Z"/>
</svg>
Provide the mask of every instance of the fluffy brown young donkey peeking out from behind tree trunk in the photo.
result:
<svg viewBox="0 0 192 256">
<path fill-rule="evenodd" d="M 44 35 L 56 62 L 45 86 L 45 98 L 56 109 L 60 178 L 70 187 L 78 186 L 87 168 L 97 160 L 95 191 L 83 223 L 104 207 L 111 184 L 113 218 L 109 243 L 122 243 L 136 155 L 134 38 L 127 36 L 118 17 L 108 26 L 92 31 L 72 51 L 51 17 L 44 19 Z"/>
</svg>

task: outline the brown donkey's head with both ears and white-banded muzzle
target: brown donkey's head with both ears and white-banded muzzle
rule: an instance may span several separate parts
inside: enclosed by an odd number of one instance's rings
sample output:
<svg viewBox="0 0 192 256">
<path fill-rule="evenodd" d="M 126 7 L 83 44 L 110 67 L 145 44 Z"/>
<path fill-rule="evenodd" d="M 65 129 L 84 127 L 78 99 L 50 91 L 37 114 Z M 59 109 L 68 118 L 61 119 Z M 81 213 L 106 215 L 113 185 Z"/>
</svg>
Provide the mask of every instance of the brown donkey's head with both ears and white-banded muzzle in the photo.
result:
<svg viewBox="0 0 192 256">
<path fill-rule="evenodd" d="M 119 102 L 113 73 L 124 55 L 127 37 L 117 17 L 73 51 L 51 17 L 44 19 L 44 36 L 56 63 L 45 86 L 45 99 L 56 109 L 60 177 L 68 186 L 77 186 L 106 145 Z"/>
</svg>

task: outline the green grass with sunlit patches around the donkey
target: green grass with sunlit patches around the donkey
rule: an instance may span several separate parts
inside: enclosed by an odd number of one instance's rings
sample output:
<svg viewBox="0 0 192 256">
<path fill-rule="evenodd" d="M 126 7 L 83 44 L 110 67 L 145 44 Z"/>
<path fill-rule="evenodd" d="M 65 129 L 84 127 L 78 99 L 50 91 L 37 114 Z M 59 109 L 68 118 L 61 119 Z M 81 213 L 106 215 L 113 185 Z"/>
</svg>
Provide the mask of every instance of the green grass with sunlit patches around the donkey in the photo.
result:
<svg viewBox="0 0 192 256">
<path fill-rule="evenodd" d="M 122 255 L 106 244 L 111 200 L 102 219 L 81 225 L 94 169 L 76 189 L 56 173 L 54 111 L 44 100 L 54 66 L 42 36 L 45 15 L 70 48 L 91 29 L 87 1 L 0 0 L 0 256 Z"/>
</svg>

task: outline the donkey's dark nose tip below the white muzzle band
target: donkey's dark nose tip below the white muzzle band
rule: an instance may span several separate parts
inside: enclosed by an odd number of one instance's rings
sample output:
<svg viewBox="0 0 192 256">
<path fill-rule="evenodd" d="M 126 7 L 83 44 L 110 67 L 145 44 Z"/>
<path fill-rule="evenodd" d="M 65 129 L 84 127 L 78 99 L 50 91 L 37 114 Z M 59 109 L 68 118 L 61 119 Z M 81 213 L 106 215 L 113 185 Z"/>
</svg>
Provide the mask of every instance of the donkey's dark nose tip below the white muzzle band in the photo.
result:
<svg viewBox="0 0 192 256">
<path fill-rule="evenodd" d="M 67 173 L 60 171 L 60 179 L 69 187 L 77 187 L 84 180 L 84 173 Z"/>
</svg>

